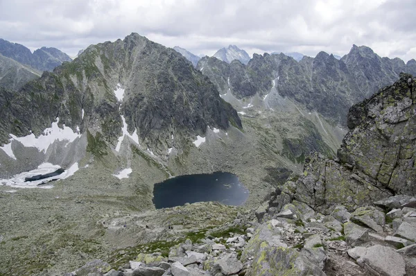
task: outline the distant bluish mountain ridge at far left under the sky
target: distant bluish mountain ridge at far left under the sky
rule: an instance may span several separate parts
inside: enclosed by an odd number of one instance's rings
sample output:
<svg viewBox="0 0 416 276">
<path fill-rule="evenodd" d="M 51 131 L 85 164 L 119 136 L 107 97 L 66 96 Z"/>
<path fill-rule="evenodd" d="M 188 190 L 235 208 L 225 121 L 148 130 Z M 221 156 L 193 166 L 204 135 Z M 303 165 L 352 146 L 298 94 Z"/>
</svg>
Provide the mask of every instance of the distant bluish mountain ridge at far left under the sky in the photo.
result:
<svg viewBox="0 0 416 276">
<path fill-rule="evenodd" d="M 62 62 L 71 61 L 69 55 L 55 48 L 42 47 L 31 53 L 25 46 L 1 38 L 0 54 L 40 71 L 52 71 Z"/>
</svg>

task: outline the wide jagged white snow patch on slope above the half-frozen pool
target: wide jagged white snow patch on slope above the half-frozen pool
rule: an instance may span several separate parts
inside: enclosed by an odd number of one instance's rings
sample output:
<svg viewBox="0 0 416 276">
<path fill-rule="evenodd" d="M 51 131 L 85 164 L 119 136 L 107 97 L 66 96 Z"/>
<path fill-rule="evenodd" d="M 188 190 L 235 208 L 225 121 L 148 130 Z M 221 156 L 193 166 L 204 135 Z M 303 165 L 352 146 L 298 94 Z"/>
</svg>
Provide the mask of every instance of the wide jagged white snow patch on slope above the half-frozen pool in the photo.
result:
<svg viewBox="0 0 416 276">
<path fill-rule="evenodd" d="M 51 128 L 46 128 L 42 135 L 39 137 L 35 137 L 33 133 L 30 135 L 26 135 L 24 137 L 17 137 L 15 135 L 10 134 L 12 138 L 10 138 L 10 143 L 5 144 L 4 146 L 0 147 L 4 152 L 12 157 L 13 159 L 16 159 L 15 155 L 12 152 L 12 141 L 16 140 L 19 141 L 23 146 L 26 148 L 37 148 L 39 151 L 48 150 L 49 146 L 53 144 L 54 141 L 68 141 L 67 145 L 74 141 L 76 138 L 81 137 L 81 135 L 78 132 L 73 132 L 73 130 L 65 125 L 60 128 L 58 126 L 59 123 L 59 117 L 56 118 L 56 121 L 52 123 Z M 65 145 L 65 146 L 67 146 Z"/>
</svg>

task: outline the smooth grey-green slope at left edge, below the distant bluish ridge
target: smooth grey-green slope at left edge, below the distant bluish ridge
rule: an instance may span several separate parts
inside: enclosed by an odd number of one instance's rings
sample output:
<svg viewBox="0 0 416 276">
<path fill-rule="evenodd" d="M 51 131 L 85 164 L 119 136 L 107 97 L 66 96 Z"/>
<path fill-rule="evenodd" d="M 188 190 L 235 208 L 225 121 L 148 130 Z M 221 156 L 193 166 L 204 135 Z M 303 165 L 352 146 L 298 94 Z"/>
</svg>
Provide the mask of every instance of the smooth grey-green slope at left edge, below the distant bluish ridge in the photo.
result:
<svg viewBox="0 0 416 276">
<path fill-rule="evenodd" d="M 0 86 L 6 89 L 17 90 L 29 80 L 39 78 L 41 73 L 36 69 L 0 55 Z"/>
</svg>

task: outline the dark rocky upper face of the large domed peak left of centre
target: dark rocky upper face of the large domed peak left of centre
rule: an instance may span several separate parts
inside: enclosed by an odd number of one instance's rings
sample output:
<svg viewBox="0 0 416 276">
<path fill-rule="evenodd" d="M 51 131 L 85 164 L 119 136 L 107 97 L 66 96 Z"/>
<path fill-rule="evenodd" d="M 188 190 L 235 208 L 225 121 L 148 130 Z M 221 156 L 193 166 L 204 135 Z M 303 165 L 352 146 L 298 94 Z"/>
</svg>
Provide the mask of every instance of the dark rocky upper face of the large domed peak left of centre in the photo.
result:
<svg viewBox="0 0 416 276">
<path fill-rule="evenodd" d="M 1 109 L 2 142 L 9 133 L 39 135 L 56 117 L 73 130 L 99 132 L 113 146 L 125 119 L 128 132 L 137 130 L 140 143 L 155 153 L 182 148 L 207 126 L 241 127 L 236 111 L 180 53 L 135 33 L 89 46 L 19 92 L 0 95 L 0 106 L 9 106 Z"/>
</svg>

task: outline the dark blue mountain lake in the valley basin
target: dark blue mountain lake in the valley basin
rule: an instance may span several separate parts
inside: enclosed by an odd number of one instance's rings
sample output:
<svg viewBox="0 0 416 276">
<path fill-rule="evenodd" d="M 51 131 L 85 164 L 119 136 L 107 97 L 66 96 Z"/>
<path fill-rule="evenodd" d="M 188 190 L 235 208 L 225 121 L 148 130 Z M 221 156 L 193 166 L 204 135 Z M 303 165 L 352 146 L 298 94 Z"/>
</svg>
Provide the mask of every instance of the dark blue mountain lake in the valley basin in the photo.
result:
<svg viewBox="0 0 416 276">
<path fill-rule="evenodd" d="M 201 201 L 218 201 L 225 205 L 242 205 L 248 189 L 232 173 L 181 175 L 155 184 L 153 203 L 156 209 Z"/>
</svg>

